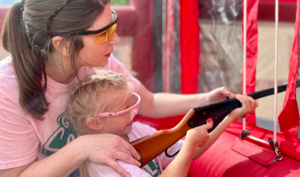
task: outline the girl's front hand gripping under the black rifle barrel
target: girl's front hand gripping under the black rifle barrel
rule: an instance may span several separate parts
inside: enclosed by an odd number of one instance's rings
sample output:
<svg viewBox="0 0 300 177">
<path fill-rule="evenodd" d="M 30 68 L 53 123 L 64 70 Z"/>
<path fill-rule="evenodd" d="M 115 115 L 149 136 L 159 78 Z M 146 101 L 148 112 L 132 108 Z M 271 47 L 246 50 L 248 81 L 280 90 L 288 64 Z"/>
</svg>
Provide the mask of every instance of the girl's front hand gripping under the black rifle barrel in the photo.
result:
<svg viewBox="0 0 300 177">
<path fill-rule="evenodd" d="M 242 105 L 229 114 L 229 118 L 231 118 L 232 121 L 241 117 L 246 118 L 247 114 L 253 114 L 253 110 L 258 107 L 257 102 L 248 95 L 237 94 L 236 98 Z"/>
</svg>

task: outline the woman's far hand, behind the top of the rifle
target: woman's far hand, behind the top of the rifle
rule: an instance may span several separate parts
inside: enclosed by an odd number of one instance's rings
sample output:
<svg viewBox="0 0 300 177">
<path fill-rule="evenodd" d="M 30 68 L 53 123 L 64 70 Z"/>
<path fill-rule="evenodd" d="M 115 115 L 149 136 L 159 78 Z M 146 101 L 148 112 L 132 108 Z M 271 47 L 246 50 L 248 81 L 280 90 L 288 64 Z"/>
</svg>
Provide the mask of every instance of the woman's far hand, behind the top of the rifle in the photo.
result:
<svg viewBox="0 0 300 177">
<path fill-rule="evenodd" d="M 226 89 L 225 87 L 213 89 L 206 94 L 206 102 L 202 106 L 223 101 L 226 99 L 226 95 L 228 95 L 229 98 L 234 98 L 236 96 L 235 94 L 230 93 L 230 91 L 228 91 L 228 89 Z"/>
</svg>

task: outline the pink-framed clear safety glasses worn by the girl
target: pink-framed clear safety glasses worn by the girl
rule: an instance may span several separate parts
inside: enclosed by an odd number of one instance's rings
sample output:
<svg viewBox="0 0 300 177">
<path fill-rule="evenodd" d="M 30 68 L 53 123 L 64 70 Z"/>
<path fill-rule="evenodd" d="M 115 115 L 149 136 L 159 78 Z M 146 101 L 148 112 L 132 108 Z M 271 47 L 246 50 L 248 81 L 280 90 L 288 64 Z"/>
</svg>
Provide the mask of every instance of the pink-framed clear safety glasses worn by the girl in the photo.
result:
<svg viewBox="0 0 300 177">
<path fill-rule="evenodd" d="M 140 101 L 141 101 L 140 95 L 138 95 L 137 93 L 132 93 L 133 106 L 131 106 L 130 108 L 127 108 L 123 111 L 119 111 L 116 113 L 108 113 L 108 112 L 99 113 L 99 114 L 95 114 L 94 117 L 117 116 L 116 118 L 112 118 L 113 123 L 123 123 L 123 122 L 131 121 L 133 119 L 133 117 L 135 117 L 138 113 Z M 127 113 L 127 114 L 123 114 L 123 113 Z M 121 114 L 123 114 L 123 115 L 121 115 Z M 126 118 L 126 116 L 127 116 L 127 118 Z"/>
</svg>

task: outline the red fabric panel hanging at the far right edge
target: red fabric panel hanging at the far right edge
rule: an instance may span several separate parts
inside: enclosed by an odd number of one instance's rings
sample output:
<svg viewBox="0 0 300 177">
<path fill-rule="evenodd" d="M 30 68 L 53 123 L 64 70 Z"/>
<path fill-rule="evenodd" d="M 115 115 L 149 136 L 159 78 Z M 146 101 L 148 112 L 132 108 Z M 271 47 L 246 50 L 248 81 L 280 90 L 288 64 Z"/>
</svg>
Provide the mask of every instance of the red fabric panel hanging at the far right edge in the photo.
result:
<svg viewBox="0 0 300 177">
<path fill-rule="evenodd" d="M 298 77 L 298 54 L 299 54 L 299 23 L 300 23 L 300 1 L 297 2 L 297 15 L 295 23 L 295 36 L 294 44 L 292 48 L 292 54 L 290 58 L 289 65 L 289 80 L 288 87 L 285 94 L 285 99 L 283 103 L 283 109 L 279 114 L 278 120 L 281 132 L 285 136 L 291 138 L 297 138 L 297 131 L 299 129 L 299 112 L 296 102 L 296 82 Z"/>
</svg>

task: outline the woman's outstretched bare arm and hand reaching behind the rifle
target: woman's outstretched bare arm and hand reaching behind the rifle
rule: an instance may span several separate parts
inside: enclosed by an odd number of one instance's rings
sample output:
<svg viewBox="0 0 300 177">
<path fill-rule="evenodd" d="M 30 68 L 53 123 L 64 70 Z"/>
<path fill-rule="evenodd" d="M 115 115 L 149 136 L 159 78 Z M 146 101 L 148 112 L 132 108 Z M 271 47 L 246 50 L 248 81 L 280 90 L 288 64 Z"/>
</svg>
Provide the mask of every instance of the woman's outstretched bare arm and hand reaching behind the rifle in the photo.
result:
<svg viewBox="0 0 300 177">
<path fill-rule="evenodd" d="M 164 118 L 186 114 L 190 109 L 225 100 L 225 96 L 235 97 L 226 88 L 218 88 L 209 93 L 173 94 L 151 93 L 141 85 L 137 92 L 141 96 L 138 114 L 151 118 Z"/>
</svg>

